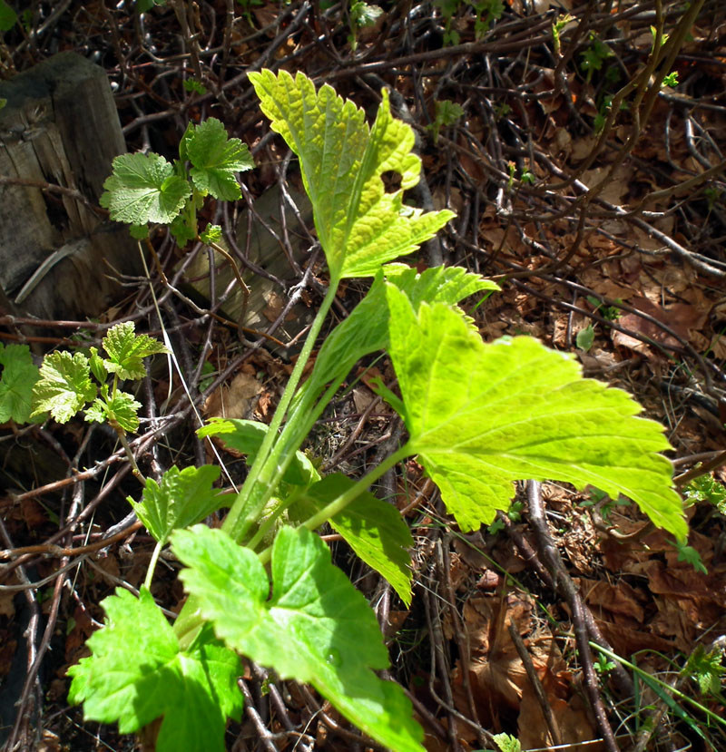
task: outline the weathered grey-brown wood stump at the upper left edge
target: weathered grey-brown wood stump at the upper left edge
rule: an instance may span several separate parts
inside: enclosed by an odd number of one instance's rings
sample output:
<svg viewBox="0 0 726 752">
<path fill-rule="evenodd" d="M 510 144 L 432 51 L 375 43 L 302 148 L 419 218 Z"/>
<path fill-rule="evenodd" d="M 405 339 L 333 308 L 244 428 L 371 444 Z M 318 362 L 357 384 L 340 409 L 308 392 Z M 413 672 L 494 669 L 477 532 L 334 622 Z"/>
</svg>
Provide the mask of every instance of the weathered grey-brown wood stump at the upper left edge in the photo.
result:
<svg viewBox="0 0 726 752">
<path fill-rule="evenodd" d="M 98 316 L 118 296 L 116 276 L 141 269 L 128 230 L 93 210 L 126 151 L 106 74 L 60 53 L 0 82 L 0 98 L 0 309 Z"/>
</svg>

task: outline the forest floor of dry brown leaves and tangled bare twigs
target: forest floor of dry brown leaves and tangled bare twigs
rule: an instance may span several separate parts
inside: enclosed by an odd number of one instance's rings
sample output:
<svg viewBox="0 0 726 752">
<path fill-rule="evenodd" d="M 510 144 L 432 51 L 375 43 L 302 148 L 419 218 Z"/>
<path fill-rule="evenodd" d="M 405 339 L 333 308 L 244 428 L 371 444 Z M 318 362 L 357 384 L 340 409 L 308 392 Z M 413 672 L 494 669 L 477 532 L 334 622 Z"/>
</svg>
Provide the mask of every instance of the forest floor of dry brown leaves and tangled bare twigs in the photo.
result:
<svg viewBox="0 0 726 752">
<path fill-rule="evenodd" d="M 653 529 L 632 504 L 554 482 L 522 485 L 508 514 L 464 533 L 416 462 L 387 474 L 377 493 L 395 501 L 416 541 L 410 608 L 343 542 L 333 536 L 330 545 L 376 607 L 391 677 L 413 699 L 427 749 L 494 748 L 491 734 L 500 732 L 522 749 L 555 742 L 564 750 L 604 749 L 602 718 L 588 699 L 594 676 L 620 748 L 726 750 L 726 6 L 408 0 L 378 9 L 169 0 L 139 15 L 131 3 L 105 0 L 26 5 L 31 10 L 0 37 L 0 77 L 71 50 L 106 71 L 129 151 L 171 158 L 187 122 L 210 116 L 250 144 L 257 168 L 242 176 L 243 199 L 225 207 L 208 200 L 203 216 L 236 238 L 253 289 L 248 256 L 265 241 L 238 221 L 252 207 L 263 221 L 256 202 L 273 195 L 266 216 L 279 240 L 267 244 L 285 253 L 259 279 L 266 293 L 242 322 L 243 336 L 239 295 L 225 290 L 230 269 L 221 264 L 210 280 L 200 249 L 177 249 L 163 232 L 152 237 L 165 272 L 162 279 L 152 271 L 153 284 L 190 392 L 178 376 L 170 383 L 163 369 L 152 373 L 145 414 L 181 417 L 163 430 L 159 420 L 142 423 L 142 436 L 156 427 L 151 442 L 138 444 L 140 462 L 166 468 L 214 460 L 193 435 L 192 403 L 205 417 L 269 419 L 294 355 L 260 347 L 265 340 L 249 330 L 287 343 L 324 291 L 322 256 L 309 252 L 307 209 L 300 203 L 305 228 L 289 209 L 281 220 L 280 184 L 287 181 L 293 198 L 302 190 L 297 162 L 270 133 L 247 74 L 302 71 L 368 116 L 390 87 L 393 112 L 414 128 L 423 161 L 410 197 L 427 210 L 456 211 L 411 257 L 417 269 L 457 264 L 494 279 L 501 292 L 465 306 L 486 341 L 538 337 L 573 354 L 585 376 L 633 395 L 663 425 L 690 503 L 687 546 Z M 691 11 L 694 20 L 685 17 Z M 665 53 L 649 67 L 655 36 Z M 299 302 L 280 322 L 303 277 Z M 113 308 L 76 327 L 83 344 L 123 317 L 159 336 L 147 282 L 124 285 Z M 365 289 L 349 282 L 336 316 Z M 51 340 L 68 336 L 59 322 Z M 2 327 L 0 339 L 16 341 L 15 328 Z M 311 438 L 308 449 L 328 470 L 361 473 L 400 438 L 397 418 L 368 386 L 372 376 L 395 377 L 387 359 L 362 364 Z M 87 655 L 85 640 L 103 622 L 100 602 L 119 585 L 141 586 L 153 548 L 138 525 L 104 539 L 129 512 L 126 496 L 138 495 L 126 464 L 54 485 L 116 451 L 113 435 L 96 432 L 89 441 L 91 430 L 80 419 L 22 431 L 2 426 L 15 457 L 32 448 L 63 460 L 55 477 L 30 461 L 23 475 L 7 469 L 6 453 L 0 470 L 0 704 L 8 749 L 129 750 L 137 743 L 115 727 L 84 722 L 81 708 L 67 705 L 65 672 Z M 239 457 L 223 460 L 231 477 L 241 477 Z M 688 484 L 699 464 L 711 471 L 700 491 Z M 530 522 L 533 493 L 544 501 L 544 531 Z M 69 509 L 83 522 L 71 525 Z M 93 550 L 83 548 L 88 543 Z M 554 563 L 546 557 L 553 546 Z M 153 593 L 178 610 L 177 568 L 163 567 Z M 578 633 L 609 645 L 615 658 L 596 649 L 585 655 Z M 34 661 L 42 668 L 32 675 Z M 247 710 L 228 729 L 229 749 L 371 747 L 312 690 L 285 682 L 270 693 L 270 678 L 257 667 L 241 682 Z"/>
</svg>

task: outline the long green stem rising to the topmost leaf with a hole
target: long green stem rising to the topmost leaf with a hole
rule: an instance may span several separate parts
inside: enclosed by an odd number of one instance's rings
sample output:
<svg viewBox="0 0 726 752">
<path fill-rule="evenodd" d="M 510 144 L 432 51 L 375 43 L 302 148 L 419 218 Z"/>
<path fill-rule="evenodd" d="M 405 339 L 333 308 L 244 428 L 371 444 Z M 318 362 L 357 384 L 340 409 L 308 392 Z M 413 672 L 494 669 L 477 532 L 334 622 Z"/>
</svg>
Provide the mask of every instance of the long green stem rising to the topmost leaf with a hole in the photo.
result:
<svg viewBox="0 0 726 752">
<path fill-rule="evenodd" d="M 260 452 L 257 454 L 250 474 L 247 476 L 237 499 L 232 504 L 231 510 L 222 525 L 222 530 L 227 532 L 236 542 L 244 541 L 245 536 L 250 531 L 250 527 L 255 524 L 265 503 L 275 491 L 274 482 L 285 472 L 285 468 L 291 462 L 294 453 L 283 455 L 285 449 L 279 439 L 278 431 L 282 421 L 288 411 L 289 404 L 299 385 L 305 364 L 308 362 L 315 342 L 318 338 L 320 328 L 328 314 L 329 308 L 335 299 L 336 289 L 338 288 L 337 280 L 331 280 L 328 292 L 323 299 L 322 305 L 310 327 L 308 337 L 305 340 L 295 368 L 289 377 L 288 385 L 280 399 L 280 404 L 272 416 L 270 428 L 265 436 Z"/>
</svg>

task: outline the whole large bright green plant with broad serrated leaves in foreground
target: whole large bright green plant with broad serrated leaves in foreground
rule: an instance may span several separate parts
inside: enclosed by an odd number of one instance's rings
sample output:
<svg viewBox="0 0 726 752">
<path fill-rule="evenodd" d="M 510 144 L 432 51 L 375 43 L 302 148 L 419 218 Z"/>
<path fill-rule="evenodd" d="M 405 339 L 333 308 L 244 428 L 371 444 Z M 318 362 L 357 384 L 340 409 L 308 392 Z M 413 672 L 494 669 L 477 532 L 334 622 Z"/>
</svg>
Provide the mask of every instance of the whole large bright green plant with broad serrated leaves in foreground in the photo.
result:
<svg viewBox="0 0 726 752">
<path fill-rule="evenodd" d="M 683 539 L 671 464 L 658 454 L 669 445 L 660 425 L 636 417 L 629 396 L 582 378 L 571 357 L 528 337 L 484 344 L 458 302 L 493 282 L 464 269 L 417 274 L 389 263 L 453 215 L 404 203 L 420 160 L 385 91 L 368 126 L 354 103 L 327 85 L 316 91 L 302 73 L 250 73 L 250 82 L 299 158 L 329 288 L 270 425 L 215 421 L 201 429 L 241 448 L 250 464 L 221 530 L 184 527 L 221 505 L 210 472 L 191 473 L 176 495 L 165 483 L 178 487 L 187 471 L 146 483 L 134 508 L 158 548 L 171 541 L 189 598 L 173 628 L 152 600 L 151 575 L 140 598 L 117 591 L 103 601 L 106 624 L 88 640 L 92 655 L 69 670 L 70 700 L 123 732 L 163 716 L 160 752 L 221 750 L 226 718 L 240 717 L 241 654 L 312 684 L 379 744 L 421 752 L 423 731 L 406 695 L 375 673 L 388 665 L 375 615 L 314 531 L 330 522 L 409 603 L 410 533 L 368 488 L 417 455 L 463 532 L 507 510 L 515 480 L 557 478 L 623 493 Z M 387 171 L 399 173 L 398 190 L 385 189 Z M 325 339 L 300 385 L 338 283 L 355 277 L 373 278 L 367 296 Z M 400 395 L 382 383 L 377 391 L 403 418 L 407 440 L 363 478 L 321 478 L 299 447 L 358 360 L 379 350 L 388 350 Z M 203 492 L 189 490 L 197 483 Z M 172 504 L 179 495 L 185 501 Z"/>
</svg>

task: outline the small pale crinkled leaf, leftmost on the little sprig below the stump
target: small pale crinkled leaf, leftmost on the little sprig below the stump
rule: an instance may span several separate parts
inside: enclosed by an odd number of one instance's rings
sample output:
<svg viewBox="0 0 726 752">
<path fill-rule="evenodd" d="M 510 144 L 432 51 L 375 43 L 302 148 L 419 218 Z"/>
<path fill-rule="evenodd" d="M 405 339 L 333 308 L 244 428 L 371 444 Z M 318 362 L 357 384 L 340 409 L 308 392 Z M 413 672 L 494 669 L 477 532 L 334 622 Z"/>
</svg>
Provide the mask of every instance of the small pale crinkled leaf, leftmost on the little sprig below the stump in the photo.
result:
<svg viewBox="0 0 726 752">
<path fill-rule="evenodd" d="M 97 394 L 91 383 L 88 358 L 60 351 L 48 353 L 33 387 L 33 415 L 49 412 L 58 423 L 67 423 Z"/>
</svg>

